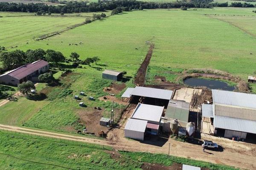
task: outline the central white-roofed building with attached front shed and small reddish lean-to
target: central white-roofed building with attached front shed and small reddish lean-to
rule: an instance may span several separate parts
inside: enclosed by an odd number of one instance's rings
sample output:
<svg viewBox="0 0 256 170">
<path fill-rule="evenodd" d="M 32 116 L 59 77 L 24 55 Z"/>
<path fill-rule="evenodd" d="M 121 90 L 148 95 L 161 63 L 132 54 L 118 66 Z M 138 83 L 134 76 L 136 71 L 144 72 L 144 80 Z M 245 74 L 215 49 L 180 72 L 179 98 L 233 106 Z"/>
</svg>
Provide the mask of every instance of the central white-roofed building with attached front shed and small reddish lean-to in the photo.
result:
<svg viewBox="0 0 256 170">
<path fill-rule="evenodd" d="M 146 134 L 157 135 L 163 132 L 165 130 L 165 125 L 161 122 L 163 113 L 163 106 L 139 103 L 125 125 L 125 137 L 144 140 Z M 169 124 L 166 125 L 170 127 Z"/>
</svg>

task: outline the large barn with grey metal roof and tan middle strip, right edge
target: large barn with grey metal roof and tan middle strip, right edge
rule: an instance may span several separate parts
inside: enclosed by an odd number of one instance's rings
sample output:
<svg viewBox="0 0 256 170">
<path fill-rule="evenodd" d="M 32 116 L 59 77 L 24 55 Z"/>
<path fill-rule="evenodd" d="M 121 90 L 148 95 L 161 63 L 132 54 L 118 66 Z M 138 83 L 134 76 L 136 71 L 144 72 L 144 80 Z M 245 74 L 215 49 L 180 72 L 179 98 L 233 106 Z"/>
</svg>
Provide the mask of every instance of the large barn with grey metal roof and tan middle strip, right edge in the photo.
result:
<svg viewBox="0 0 256 170">
<path fill-rule="evenodd" d="M 212 90 L 212 105 L 202 106 L 202 117 L 210 119 L 218 136 L 256 139 L 256 95 Z"/>
</svg>

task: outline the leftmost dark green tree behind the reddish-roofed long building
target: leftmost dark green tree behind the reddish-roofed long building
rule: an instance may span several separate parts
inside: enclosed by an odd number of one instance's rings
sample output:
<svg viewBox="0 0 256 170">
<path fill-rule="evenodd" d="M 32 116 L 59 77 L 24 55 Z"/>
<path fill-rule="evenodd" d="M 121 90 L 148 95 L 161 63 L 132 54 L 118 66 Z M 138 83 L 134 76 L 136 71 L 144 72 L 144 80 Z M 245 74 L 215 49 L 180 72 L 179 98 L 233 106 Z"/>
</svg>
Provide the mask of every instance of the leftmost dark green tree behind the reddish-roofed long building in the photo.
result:
<svg viewBox="0 0 256 170">
<path fill-rule="evenodd" d="M 3 67 L 7 69 L 14 69 L 21 65 L 24 65 L 26 54 L 21 50 L 15 51 L 4 51 L 0 53 L 0 62 L 2 62 Z"/>
</svg>

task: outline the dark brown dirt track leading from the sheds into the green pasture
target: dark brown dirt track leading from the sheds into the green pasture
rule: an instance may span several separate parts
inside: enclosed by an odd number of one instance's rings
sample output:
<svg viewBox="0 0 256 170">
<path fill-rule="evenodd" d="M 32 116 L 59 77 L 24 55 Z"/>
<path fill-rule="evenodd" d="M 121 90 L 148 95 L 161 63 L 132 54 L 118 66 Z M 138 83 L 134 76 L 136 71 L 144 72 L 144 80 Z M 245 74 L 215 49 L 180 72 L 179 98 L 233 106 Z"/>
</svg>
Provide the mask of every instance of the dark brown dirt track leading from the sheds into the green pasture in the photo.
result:
<svg viewBox="0 0 256 170">
<path fill-rule="evenodd" d="M 153 49 L 154 49 L 154 44 L 151 43 L 151 45 L 150 45 L 150 47 L 148 49 L 148 53 L 147 53 L 144 61 L 140 65 L 140 68 L 139 68 L 139 70 L 137 72 L 137 75 L 136 75 L 136 78 L 134 80 L 134 83 L 137 86 L 143 86 L 144 83 L 145 83 L 145 76 L 146 76 L 148 64 L 149 64 L 151 56 L 153 54 Z"/>
</svg>

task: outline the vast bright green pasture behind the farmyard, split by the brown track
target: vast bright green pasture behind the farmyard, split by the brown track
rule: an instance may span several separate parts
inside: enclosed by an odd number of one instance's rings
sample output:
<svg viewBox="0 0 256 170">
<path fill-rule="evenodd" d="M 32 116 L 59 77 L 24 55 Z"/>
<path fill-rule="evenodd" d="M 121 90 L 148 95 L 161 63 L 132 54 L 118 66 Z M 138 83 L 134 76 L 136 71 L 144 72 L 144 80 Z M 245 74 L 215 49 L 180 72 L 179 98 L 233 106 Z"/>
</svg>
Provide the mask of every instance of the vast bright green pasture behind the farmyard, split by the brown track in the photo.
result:
<svg viewBox="0 0 256 170">
<path fill-rule="evenodd" d="M 241 8 L 132 11 L 18 48 L 52 48 L 67 57 L 76 51 L 81 59 L 98 56 L 110 68 L 122 68 L 134 73 L 136 70 L 131 67 L 138 68 L 148 48 L 145 42 L 151 41 L 155 44 L 152 66 L 212 68 L 243 79 L 253 74 L 256 42 L 255 37 L 249 34 L 253 34 L 253 31 L 250 32 L 253 27 L 250 20 L 241 29 L 204 14 L 255 15 Z M 224 20 L 228 17 L 226 15 Z M 239 18 L 236 22 L 246 21 Z M 248 32 L 244 31 L 246 29 Z M 69 45 L 79 42 L 83 44 Z"/>
</svg>

